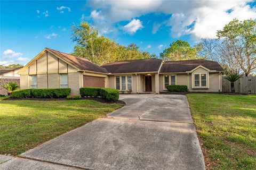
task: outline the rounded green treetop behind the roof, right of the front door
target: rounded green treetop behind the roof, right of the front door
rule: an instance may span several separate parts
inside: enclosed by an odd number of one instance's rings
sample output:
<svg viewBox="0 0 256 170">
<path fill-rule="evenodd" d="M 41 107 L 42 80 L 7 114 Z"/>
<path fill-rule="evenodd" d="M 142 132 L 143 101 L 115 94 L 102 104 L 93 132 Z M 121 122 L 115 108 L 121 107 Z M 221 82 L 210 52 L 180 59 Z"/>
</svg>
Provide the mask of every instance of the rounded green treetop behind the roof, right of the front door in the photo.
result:
<svg viewBox="0 0 256 170">
<path fill-rule="evenodd" d="M 187 41 L 177 40 L 160 53 L 160 58 L 164 61 L 200 59 L 197 56 L 197 48 L 191 47 Z"/>
</svg>

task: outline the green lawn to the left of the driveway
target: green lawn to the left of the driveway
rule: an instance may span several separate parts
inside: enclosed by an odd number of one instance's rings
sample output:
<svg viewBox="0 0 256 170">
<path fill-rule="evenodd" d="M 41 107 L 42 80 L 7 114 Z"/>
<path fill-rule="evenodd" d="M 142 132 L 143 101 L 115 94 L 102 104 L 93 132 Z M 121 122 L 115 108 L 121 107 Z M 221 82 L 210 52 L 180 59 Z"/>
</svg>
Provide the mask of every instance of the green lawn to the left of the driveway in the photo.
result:
<svg viewBox="0 0 256 170">
<path fill-rule="evenodd" d="M 0 154 L 19 155 L 115 109 L 94 100 L 3 100 L 0 97 Z"/>
</svg>

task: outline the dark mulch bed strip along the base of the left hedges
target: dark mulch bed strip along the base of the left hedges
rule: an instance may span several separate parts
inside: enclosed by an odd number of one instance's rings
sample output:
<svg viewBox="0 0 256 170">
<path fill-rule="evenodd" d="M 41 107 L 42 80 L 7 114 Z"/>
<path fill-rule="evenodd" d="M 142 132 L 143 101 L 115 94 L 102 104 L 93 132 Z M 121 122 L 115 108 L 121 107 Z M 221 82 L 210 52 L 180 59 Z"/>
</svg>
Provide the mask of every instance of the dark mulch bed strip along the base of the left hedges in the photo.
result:
<svg viewBox="0 0 256 170">
<path fill-rule="evenodd" d="M 6 98 L 3 100 L 38 100 L 38 101 L 59 101 L 59 100 L 75 100 L 75 99 L 67 99 L 67 98 Z M 121 105 L 125 105 L 125 102 L 122 100 L 117 100 L 116 102 L 113 101 L 107 101 L 101 97 L 82 97 L 79 98 L 79 100 L 95 100 L 98 101 L 100 103 L 107 103 L 107 104 L 111 104 L 111 103 L 117 103 L 117 104 L 121 104 Z"/>
</svg>

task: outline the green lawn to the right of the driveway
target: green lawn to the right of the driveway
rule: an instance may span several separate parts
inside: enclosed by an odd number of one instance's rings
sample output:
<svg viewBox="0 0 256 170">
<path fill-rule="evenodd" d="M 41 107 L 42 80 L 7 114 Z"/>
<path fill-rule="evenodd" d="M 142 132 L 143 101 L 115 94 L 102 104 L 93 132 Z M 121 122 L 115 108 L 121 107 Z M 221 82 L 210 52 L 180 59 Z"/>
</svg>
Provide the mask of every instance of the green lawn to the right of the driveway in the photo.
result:
<svg viewBox="0 0 256 170">
<path fill-rule="evenodd" d="M 208 169 L 256 169 L 256 95 L 187 95 Z"/>
</svg>

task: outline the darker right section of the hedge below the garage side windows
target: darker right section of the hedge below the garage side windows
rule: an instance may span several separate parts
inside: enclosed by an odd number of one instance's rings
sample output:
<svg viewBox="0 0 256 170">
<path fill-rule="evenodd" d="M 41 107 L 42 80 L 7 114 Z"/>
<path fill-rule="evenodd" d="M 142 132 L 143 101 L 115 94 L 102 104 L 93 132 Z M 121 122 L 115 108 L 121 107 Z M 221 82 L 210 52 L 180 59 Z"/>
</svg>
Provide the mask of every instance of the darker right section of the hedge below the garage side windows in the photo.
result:
<svg viewBox="0 0 256 170">
<path fill-rule="evenodd" d="M 32 95 L 35 98 L 64 98 L 70 94 L 70 88 L 59 89 L 33 89 Z"/>
</svg>

